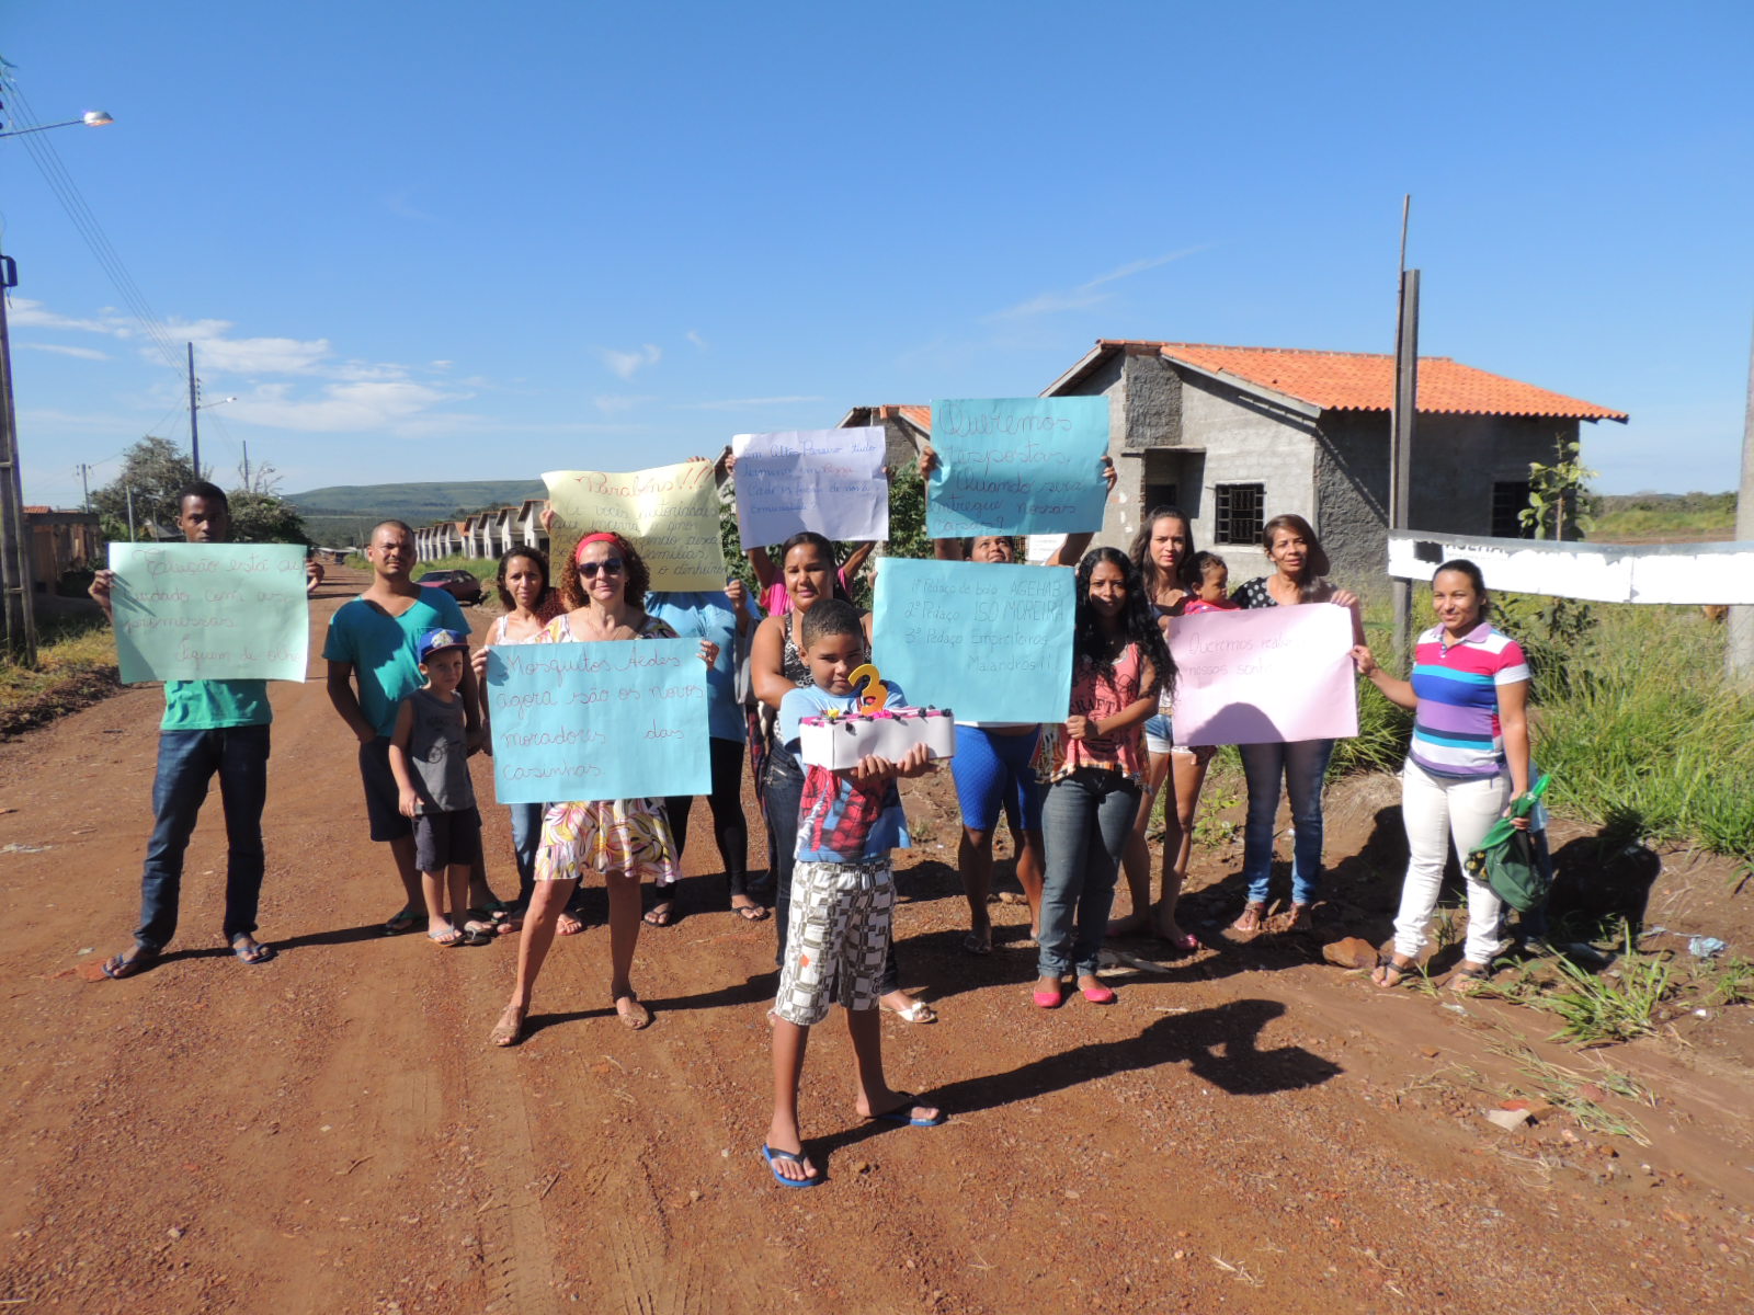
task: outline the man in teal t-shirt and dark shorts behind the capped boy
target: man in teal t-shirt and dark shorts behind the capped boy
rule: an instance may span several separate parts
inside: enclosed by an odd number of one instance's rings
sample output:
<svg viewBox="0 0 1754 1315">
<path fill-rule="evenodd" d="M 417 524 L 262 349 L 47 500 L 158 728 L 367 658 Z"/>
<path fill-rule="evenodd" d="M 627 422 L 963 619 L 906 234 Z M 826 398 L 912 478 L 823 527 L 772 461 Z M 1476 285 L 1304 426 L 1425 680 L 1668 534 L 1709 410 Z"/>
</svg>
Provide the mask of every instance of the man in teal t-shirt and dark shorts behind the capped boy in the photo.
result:
<svg viewBox="0 0 1754 1315">
<path fill-rule="evenodd" d="M 449 593 L 423 589 L 410 579 L 414 531 L 402 521 L 375 526 L 365 556 L 372 563 L 372 584 L 330 617 L 323 658 L 328 663 L 330 703 L 360 742 L 360 778 L 372 840 L 389 843 L 402 880 L 402 912 L 384 924 L 386 935 L 398 935 L 421 924 L 426 901 L 414 863 L 414 829 L 402 815 L 396 778 L 389 770 L 389 735 L 396 729 L 402 700 L 426 682 L 419 636 L 430 629 L 468 635 L 468 622 Z M 458 693 L 463 696 L 468 752 L 475 752 L 481 747 L 481 705 L 475 673 L 468 666 Z"/>
</svg>

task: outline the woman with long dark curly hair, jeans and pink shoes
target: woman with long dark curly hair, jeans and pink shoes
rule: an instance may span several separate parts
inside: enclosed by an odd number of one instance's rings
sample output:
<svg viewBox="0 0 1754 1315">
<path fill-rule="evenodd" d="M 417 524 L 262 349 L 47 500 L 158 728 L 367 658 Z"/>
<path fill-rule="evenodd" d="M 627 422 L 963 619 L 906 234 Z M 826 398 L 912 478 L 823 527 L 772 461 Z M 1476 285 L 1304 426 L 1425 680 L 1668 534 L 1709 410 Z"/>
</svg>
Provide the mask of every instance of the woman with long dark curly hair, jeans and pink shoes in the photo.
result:
<svg viewBox="0 0 1754 1315">
<path fill-rule="evenodd" d="M 1114 877 L 1144 793 L 1145 717 L 1175 663 L 1131 559 L 1112 547 L 1084 554 L 1072 635 L 1072 714 L 1047 733 L 1051 785 L 1042 807 L 1047 871 L 1035 1003 L 1058 1008 L 1063 978 L 1093 1005 L 1114 1003 L 1096 957 Z"/>
</svg>

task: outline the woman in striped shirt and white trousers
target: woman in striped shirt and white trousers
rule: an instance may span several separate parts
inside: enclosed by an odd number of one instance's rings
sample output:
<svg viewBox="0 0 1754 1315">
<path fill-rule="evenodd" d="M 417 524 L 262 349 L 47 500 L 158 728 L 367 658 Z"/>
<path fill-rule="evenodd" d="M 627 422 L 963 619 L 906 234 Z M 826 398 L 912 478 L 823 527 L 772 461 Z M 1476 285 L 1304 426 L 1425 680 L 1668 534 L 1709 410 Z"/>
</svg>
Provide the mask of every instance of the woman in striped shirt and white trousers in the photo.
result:
<svg viewBox="0 0 1754 1315">
<path fill-rule="evenodd" d="M 1391 701 L 1414 710 L 1414 738 L 1401 770 L 1407 882 L 1394 919 L 1394 954 L 1372 980 L 1393 987 L 1414 973 L 1444 882 L 1445 838 L 1466 859 L 1507 805 L 1529 787 L 1529 668 L 1522 649 L 1486 619 L 1480 568 L 1445 561 L 1431 577 L 1438 624 L 1419 636 L 1412 680 L 1396 680 L 1358 645 L 1352 659 Z M 1519 819 L 1519 826 L 1528 826 Z M 1468 877 L 1468 940 L 1451 985 L 1491 975 L 1503 949 L 1503 905 Z"/>
</svg>

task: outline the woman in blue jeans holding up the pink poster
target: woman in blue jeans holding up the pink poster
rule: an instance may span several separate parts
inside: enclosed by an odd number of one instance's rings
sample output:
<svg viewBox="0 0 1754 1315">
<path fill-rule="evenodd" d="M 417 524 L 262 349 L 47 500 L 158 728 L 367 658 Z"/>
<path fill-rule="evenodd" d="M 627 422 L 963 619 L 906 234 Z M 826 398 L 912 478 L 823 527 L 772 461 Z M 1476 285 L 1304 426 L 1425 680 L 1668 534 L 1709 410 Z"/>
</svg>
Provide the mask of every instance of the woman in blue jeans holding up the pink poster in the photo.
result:
<svg viewBox="0 0 1754 1315">
<path fill-rule="evenodd" d="M 1358 594 L 1337 589 L 1328 579 L 1328 552 L 1316 530 L 1301 515 L 1275 515 L 1261 526 L 1261 547 L 1273 563 L 1272 575 L 1242 584 L 1231 601 L 1238 607 L 1300 607 L 1337 603 L 1352 610 L 1352 635 L 1365 642 L 1358 619 Z M 1266 896 L 1273 868 L 1273 822 L 1279 817 L 1279 789 L 1291 794 L 1294 833 L 1291 857 L 1291 919 L 1286 931 L 1308 931 L 1310 905 L 1321 885 L 1323 812 L 1321 789 L 1333 756 L 1333 740 L 1296 740 L 1291 743 L 1238 745 L 1242 775 L 1249 782 L 1249 819 L 1242 833 L 1242 875 L 1249 884 L 1249 903 L 1231 924 L 1231 931 L 1254 935 L 1266 924 Z"/>
</svg>

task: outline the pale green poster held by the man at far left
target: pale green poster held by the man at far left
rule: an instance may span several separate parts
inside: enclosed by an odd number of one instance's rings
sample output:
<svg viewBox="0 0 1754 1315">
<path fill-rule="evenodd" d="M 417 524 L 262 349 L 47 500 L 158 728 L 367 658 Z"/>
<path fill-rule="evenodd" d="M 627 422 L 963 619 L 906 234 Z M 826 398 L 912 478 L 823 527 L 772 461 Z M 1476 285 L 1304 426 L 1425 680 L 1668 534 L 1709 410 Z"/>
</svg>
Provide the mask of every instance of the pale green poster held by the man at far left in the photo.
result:
<svg viewBox="0 0 1754 1315">
<path fill-rule="evenodd" d="M 111 544 L 123 684 L 303 680 L 310 645 L 298 544 Z"/>
</svg>

